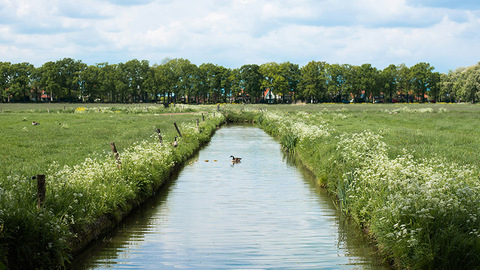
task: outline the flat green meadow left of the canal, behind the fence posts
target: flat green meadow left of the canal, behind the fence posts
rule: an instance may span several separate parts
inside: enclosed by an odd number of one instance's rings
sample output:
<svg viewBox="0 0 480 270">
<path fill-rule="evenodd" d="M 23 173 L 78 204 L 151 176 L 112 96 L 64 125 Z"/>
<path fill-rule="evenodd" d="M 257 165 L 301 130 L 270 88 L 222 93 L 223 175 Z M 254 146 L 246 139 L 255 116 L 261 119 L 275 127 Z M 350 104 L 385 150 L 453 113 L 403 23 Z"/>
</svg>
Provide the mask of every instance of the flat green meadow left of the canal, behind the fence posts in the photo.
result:
<svg viewBox="0 0 480 270">
<path fill-rule="evenodd" d="M 192 109 L 177 106 L 120 105 L 118 107 L 70 106 L 71 104 L 0 104 L 10 112 L 0 113 L 0 175 L 43 174 L 49 165 L 75 165 L 86 157 L 119 151 L 147 139 L 160 128 L 172 141 L 173 122 L 194 122 L 201 118 Z M 63 107 L 67 107 L 67 111 Z M 70 107 L 69 107 L 70 106 Z M 50 108 L 50 112 L 47 111 Z M 85 110 L 77 110 L 85 108 Z M 170 112 L 188 114 L 164 115 Z M 40 125 L 32 125 L 36 121 Z"/>
</svg>

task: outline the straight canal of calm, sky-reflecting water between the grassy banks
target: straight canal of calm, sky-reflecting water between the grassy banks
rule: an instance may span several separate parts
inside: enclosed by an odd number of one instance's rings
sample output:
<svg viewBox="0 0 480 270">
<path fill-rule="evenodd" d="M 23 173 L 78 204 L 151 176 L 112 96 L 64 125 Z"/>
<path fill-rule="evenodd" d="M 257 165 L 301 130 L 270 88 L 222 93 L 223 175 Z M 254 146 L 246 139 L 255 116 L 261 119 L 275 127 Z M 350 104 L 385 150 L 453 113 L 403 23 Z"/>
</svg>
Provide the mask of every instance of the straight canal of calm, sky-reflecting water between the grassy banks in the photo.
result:
<svg viewBox="0 0 480 270">
<path fill-rule="evenodd" d="M 374 252 L 277 141 L 226 126 L 73 268 L 386 269 Z"/>
</svg>

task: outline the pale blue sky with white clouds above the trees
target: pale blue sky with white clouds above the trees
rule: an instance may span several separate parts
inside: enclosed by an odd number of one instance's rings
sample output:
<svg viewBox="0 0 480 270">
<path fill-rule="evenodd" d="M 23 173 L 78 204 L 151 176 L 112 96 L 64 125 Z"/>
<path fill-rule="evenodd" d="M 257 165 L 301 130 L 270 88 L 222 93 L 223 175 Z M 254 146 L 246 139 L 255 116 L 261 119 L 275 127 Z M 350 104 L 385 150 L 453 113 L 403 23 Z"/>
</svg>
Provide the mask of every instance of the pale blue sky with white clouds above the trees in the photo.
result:
<svg viewBox="0 0 480 270">
<path fill-rule="evenodd" d="M 0 0 L 0 62 L 480 61 L 478 0 Z"/>
</svg>

